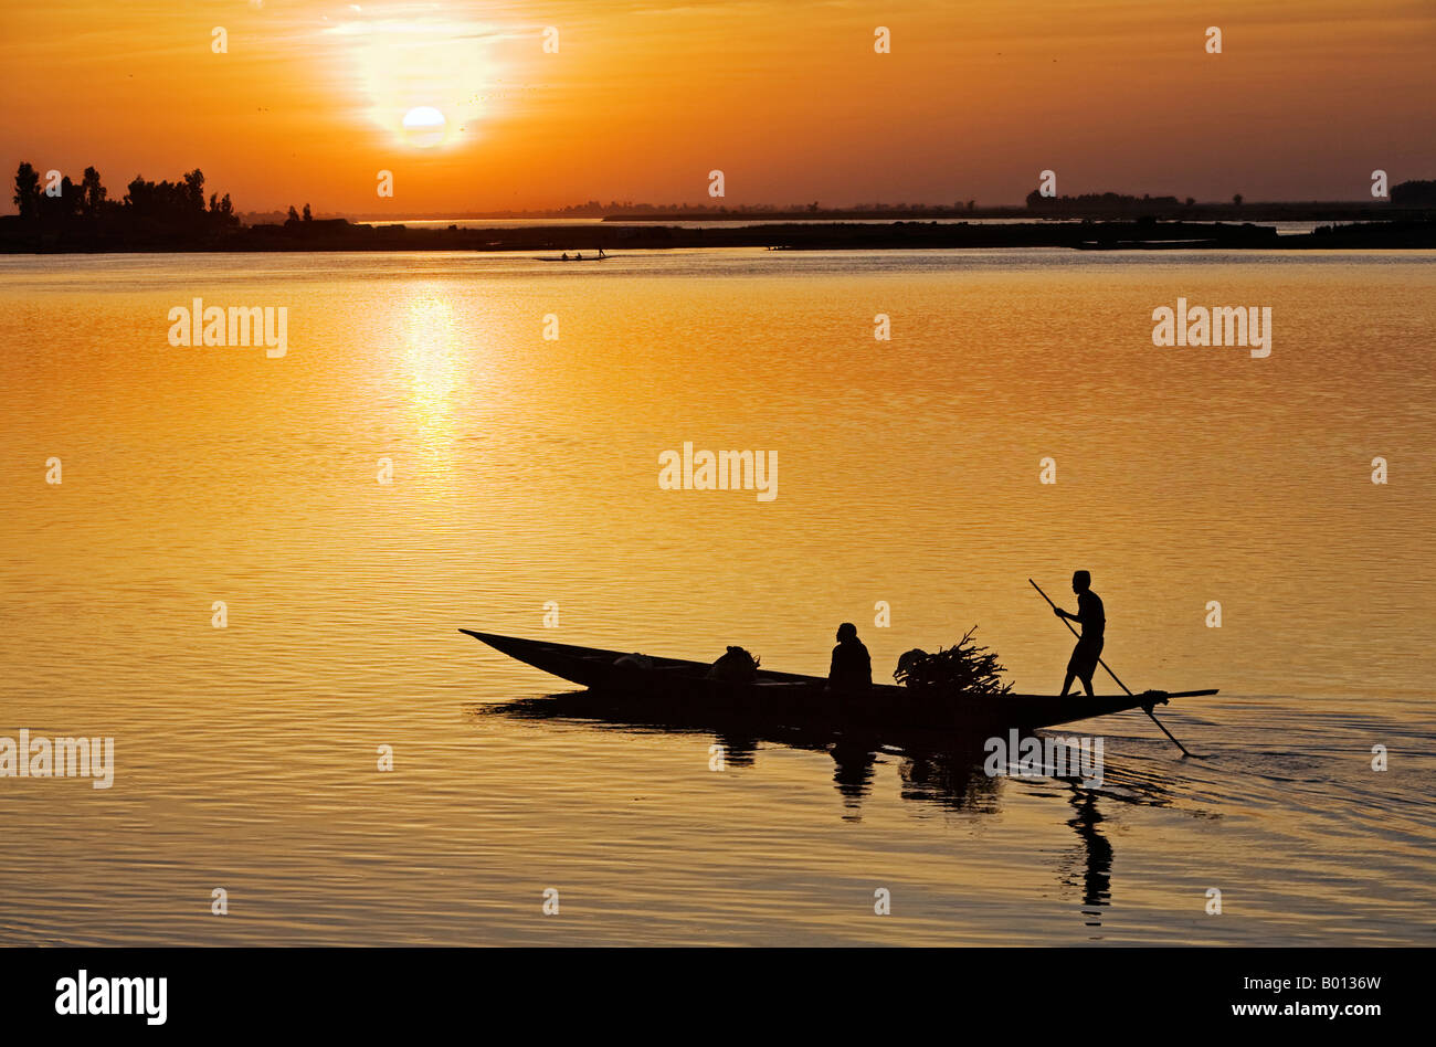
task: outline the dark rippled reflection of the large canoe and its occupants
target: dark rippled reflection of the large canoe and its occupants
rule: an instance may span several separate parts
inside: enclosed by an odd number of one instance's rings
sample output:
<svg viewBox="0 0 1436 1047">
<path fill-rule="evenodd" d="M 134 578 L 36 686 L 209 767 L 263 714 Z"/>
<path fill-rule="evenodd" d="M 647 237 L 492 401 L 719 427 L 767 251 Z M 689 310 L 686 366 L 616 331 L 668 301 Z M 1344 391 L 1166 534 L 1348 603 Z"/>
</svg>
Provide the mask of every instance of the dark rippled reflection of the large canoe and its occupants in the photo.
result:
<svg viewBox="0 0 1436 1047">
<path fill-rule="evenodd" d="M 722 724 L 675 711 L 655 715 L 652 707 L 635 715 L 633 709 L 613 708 L 612 695 L 579 691 L 543 698 L 520 698 L 500 705 L 472 709 L 475 717 L 503 715 L 520 720 L 554 720 L 586 724 L 597 730 L 707 734 L 724 750 L 724 761 L 731 768 L 755 766 L 764 745 L 784 745 L 811 753 L 826 753 L 833 758 L 833 786 L 843 799 L 844 820 L 862 817 L 862 804 L 873 787 L 879 757 L 899 760 L 900 796 L 913 803 L 929 803 L 952 811 L 995 814 L 999 811 L 1002 778 L 984 770 L 987 748 L 981 738 L 933 740 L 854 735 L 813 730 L 752 727 Z M 1037 796 L 1057 797 L 1054 787 L 1070 790 L 1067 803 L 1073 816 L 1066 819 L 1078 839 L 1078 847 L 1057 866 L 1061 885 L 1080 892 L 1086 925 L 1101 928 L 1103 909 L 1111 905 L 1111 842 L 1101 832 L 1106 816 L 1099 803 L 1165 807 L 1166 788 L 1146 776 L 1123 773 L 1110 764 L 1104 768 L 1104 783 L 1111 788 L 1088 788 L 1078 777 L 1020 778 Z M 1100 935 L 1093 935 L 1094 938 Z"/>
</svg>

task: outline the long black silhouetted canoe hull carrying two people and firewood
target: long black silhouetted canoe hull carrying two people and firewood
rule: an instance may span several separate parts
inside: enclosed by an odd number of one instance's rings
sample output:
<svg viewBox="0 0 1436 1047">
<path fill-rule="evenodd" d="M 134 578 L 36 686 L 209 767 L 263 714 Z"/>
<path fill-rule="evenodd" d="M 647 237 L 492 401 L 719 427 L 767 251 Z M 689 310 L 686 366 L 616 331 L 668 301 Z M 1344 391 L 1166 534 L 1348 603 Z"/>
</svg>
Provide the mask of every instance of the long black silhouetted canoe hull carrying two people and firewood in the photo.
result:
<svg viewBox="0 0 1436 1047">
<path fill-rule="evenodd" d="M 771 724 L 791 728 L 867 728 L 879 731 L 1035 730 L 1104 717 L 1169 698 L 1213 695 L 1209 691 L 1147 691 L 1139 695 L 1005 694 L 997 697 L 939 697 L 895 684 L 875 684 L 853 695 L 827 691 L 821 676 L 758 669 L 751 682 L 709 679 L 709 665 L 676 658 L 653 658 L 643 665 L 623 651 L 498 636 L 474 629 L 460 632 L 482 641 L 536 669 L 590 688 L 615 711 L 635 718 L 707 718 Z M 623 659 L 623 661 L 620 661 Z"/>
</svg>

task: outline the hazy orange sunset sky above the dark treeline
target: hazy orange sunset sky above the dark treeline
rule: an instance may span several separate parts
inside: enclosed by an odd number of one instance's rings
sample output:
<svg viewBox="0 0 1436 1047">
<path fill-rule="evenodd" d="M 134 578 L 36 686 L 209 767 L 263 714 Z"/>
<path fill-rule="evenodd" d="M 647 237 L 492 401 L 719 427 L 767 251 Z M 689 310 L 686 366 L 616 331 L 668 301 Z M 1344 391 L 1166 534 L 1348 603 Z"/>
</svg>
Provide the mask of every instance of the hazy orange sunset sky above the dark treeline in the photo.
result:
<svg viewBox="0 0 1436 1047">
<path fill-rule="evenodd" d="M 200 167 L 240 210 L 395 215 L 1010 204 L 1044 168 L 1063 194 L 1353 200 L 1374 168 L 1436 178 L 1433 56 L 1432 0 L 6 3 L 0 165 L 95 164 L 113 197 Z M 428 148 L 401 128 L 425 105 Z"/>
</svg>

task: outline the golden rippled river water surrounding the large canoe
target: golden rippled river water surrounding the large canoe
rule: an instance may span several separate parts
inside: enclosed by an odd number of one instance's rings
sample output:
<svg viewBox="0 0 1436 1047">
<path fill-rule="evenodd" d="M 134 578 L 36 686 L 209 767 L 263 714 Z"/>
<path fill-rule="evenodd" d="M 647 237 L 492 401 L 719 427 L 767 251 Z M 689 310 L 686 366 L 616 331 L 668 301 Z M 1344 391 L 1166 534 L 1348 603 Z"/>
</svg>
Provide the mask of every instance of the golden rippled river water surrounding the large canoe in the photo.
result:
<svg viewBox="0 0 1436 1047">
<path fill-rule="evenodd" d="M 1433 263 L 0 259 L 0 735 L 116 751 L 0 778 L 0 941 L 1430 942 Z M 1271 306 L 1271 356 L 1153 348 L 1178 296 Z M 286 356 L 171 348 L 194 297 L 287 307 Z M 777 498 L 659 490 L 685 441 Z M 1081 725 L 1091 790 L 507 715 L 564 685 L 457 632 L 823 672 L 853 620 L 886 678 L 976 623 L 1051 691 L 1027 579 L 1074 567 L 1127 684 L 1221 688 L 1162 714 L 1200 758 L 1142 714 Z"/>
</svg>

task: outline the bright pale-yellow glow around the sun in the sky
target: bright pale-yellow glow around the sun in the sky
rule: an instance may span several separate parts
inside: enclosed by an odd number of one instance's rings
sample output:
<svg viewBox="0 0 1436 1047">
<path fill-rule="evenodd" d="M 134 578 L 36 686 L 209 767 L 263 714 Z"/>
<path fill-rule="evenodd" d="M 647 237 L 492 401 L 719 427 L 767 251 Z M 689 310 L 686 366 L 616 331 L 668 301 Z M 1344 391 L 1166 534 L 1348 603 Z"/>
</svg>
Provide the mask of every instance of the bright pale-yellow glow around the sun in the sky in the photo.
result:
<svg viewBox="0 0 1436 1047">
<path fill-rule="evenodd" d="M 349 56 L 369 119 L 411 148 L 472 138 L 494 85 L 495 27 L 391 10 L 355 11 L 326 30 Z"/>
</svg>

